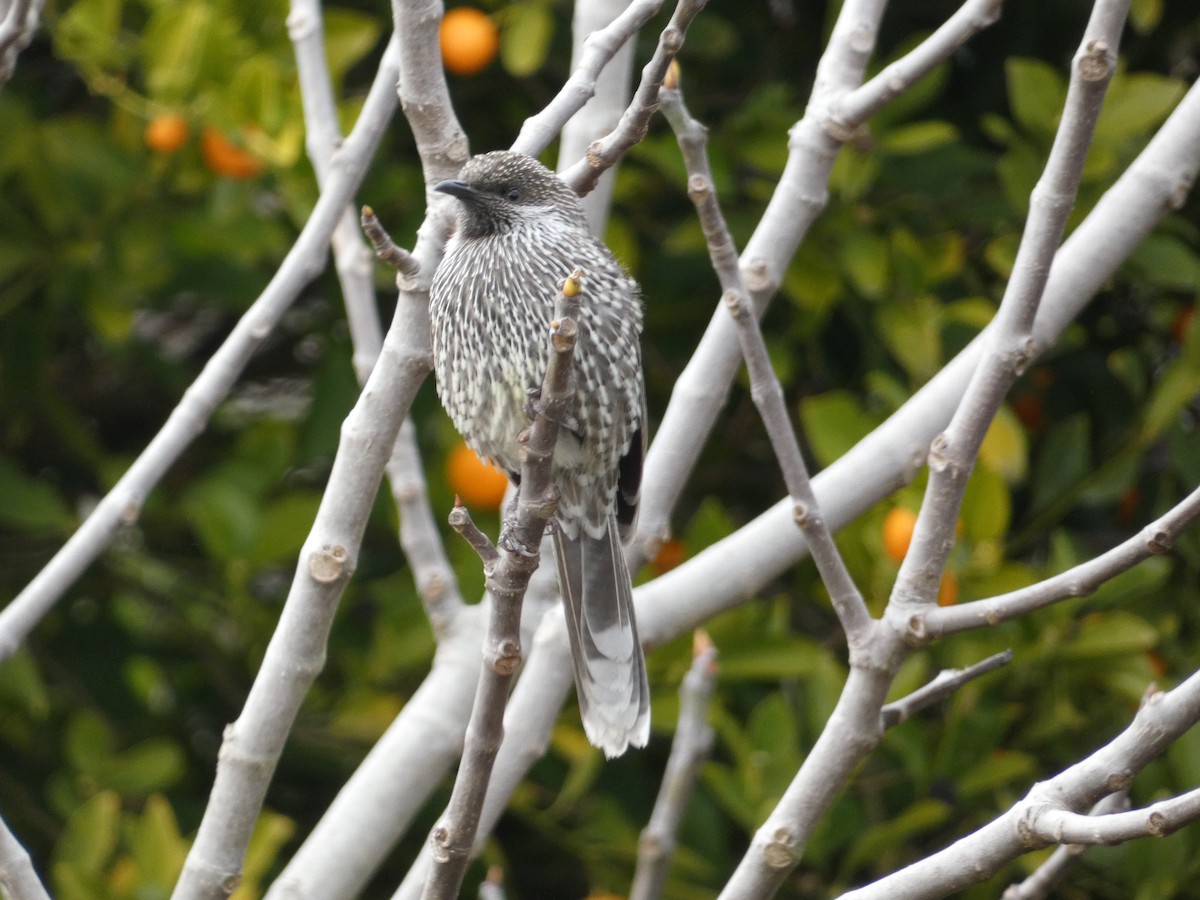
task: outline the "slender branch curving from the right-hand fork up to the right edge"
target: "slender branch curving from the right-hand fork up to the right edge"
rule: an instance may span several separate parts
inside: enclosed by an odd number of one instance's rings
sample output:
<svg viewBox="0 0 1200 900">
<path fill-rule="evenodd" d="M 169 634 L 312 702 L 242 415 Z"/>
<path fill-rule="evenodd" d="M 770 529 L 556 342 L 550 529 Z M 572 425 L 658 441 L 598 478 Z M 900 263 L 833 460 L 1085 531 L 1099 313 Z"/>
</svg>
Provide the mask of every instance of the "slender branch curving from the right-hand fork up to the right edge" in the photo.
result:
<svg viewBox="0 0 1200 900">
<path fill-rule="evenodd" d="M 1144 559 L 1169 551 L 1176 538 L 1198 518 L 1200 518 L 1200 488 L 1134 536 L 1073 569 L 1027 588 L 1010 590 L 986 600 L 932 607 L 914 613 L 908 619 L 908 635 L 913 641 L 929 641 L 942 635 L 995 625 L 1067 598 L 1086 596 Z"/>
</svg>

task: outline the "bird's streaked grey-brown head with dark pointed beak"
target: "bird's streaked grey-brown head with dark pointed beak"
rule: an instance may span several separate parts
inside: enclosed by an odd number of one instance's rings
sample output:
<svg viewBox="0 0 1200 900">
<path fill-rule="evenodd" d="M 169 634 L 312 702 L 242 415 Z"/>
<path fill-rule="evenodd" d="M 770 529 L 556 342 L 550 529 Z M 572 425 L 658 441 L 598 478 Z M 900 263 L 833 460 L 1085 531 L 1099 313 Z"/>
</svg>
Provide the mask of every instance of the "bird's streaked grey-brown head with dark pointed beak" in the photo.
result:
<svg viewBox="0 0 1200 900">
<path fill-rule="evenodd" d="M 458 228 L 467 238 L 503 234 L 559 221 L 587 229 L 580 198 L 532 156 L 497 150 L 472 157 L 458 178 L 434 188 L 461 200 Z"/>
</svg>

